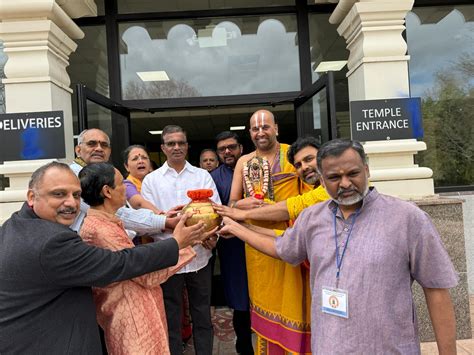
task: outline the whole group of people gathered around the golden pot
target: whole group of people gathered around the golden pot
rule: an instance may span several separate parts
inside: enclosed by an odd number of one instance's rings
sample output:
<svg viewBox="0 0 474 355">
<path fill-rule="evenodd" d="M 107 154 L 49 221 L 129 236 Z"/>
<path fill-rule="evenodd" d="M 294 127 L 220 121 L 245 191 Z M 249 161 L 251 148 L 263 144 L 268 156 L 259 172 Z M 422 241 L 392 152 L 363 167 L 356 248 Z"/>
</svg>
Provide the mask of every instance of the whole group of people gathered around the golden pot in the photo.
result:
<svg viewBox="0 0 474 355">
<path fill-rule="evenodd" d="M 98 354 L 98 323 L 111 354 L 181 354 L 185 288 L 195 352 L 212 354 L 217 248 L 240 354 L 419 354 L 413 280 L 440 354 L 454 354 L 458 277 L 428 216 L 369 187 L 358 142 L 280 143 L 267 110 L 249 133 L 254 151 L 221 132 L 198 168 L 186 132 L 166 126 L 167 161 L 152 171 L 131 146 L 124 179 L 89 129 L 70 167 L 35 171 L 0 228 L 0 353 Z M 219 230 L 185 225 L 193 189 L 213 190 Z"/>
</svg>

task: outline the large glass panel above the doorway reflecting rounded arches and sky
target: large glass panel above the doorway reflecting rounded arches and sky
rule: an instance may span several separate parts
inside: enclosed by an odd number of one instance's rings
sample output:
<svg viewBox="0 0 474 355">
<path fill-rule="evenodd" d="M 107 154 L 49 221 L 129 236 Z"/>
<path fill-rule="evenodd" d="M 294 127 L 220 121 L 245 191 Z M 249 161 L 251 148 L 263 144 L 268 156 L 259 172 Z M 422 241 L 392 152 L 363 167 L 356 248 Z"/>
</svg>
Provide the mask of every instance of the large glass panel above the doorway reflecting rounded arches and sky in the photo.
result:
<svg viewBox="0 0 474 355">
<path fill-rule="evenodd" d="M 293 15 L 126 23 L 119 30 L 124 99 L 300 89 Z"/>
</svg>

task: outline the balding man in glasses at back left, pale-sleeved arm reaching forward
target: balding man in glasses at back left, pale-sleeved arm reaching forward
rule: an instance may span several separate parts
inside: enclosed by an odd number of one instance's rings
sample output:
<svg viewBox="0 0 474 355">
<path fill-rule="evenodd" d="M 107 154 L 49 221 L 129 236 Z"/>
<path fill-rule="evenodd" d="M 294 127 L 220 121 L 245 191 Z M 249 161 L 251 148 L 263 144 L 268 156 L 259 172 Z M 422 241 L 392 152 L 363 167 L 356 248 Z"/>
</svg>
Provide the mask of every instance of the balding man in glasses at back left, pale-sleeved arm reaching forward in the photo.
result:
<svg viewBox="0 0 474 355">
<path fill-rule="evenodd" d="M 110 154 L 112 153 L 109 136 L 97 128 L 86 129 L 81 132 L 77 139 L 75 152 L 77 157 L 70 167 L 78 175 L 79 171 L 87 164 L 109 161 Z M 72 230 L 78 231 L 81 228 L 88 209 L 89 205 L 81 200 L 81 210 L 76 221 L 71 226 Z M 177 222 L 176 218 L 157 215 L 151 210 L 144 208 L 135 210 L 123 207 L 117 211 L 117 217 L 122 220 L 127 230 L 137 233 L 157 233 L 165 229 L 165 227 L 174 228 Z"/>
</svg>

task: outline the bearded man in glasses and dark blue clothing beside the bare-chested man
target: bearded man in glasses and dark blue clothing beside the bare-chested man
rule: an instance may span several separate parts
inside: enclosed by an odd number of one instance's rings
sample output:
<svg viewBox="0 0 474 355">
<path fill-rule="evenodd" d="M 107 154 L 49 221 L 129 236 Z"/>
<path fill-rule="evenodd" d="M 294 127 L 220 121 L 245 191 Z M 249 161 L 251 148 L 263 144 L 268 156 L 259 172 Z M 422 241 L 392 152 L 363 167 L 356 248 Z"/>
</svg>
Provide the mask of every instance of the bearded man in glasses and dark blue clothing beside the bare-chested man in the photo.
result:
<svg viewBox="0 0 474 355">
<path fill-rule="evenodd" d="M 222 164 L 211 172 L 211 176 L 216 183 L 222 204 L 227 205 L 234 167 L 242 155 L 242 144 L 237 134 L 224 131 L 216 136 L 216 145 Z M 232 324 L 237 336 L 236 350 L 239 354 L 253 354 L 245 244 L 238 238 L 221 239 L 217 243 L 217 252 L 227 304 L 234 310 Z"/>
</svg>

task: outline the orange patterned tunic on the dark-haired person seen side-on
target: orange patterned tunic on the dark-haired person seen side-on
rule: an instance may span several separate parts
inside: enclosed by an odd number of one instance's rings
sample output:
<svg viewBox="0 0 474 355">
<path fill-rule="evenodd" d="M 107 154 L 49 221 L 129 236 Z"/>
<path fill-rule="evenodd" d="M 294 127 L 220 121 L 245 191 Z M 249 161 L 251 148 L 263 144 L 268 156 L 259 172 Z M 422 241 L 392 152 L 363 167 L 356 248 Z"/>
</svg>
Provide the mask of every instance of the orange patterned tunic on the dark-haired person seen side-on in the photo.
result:
<svg viewBox="0 0 474 355">
<path fill-rule="evenodd" d="M 80 235 L 86 243 L 99 248 L 122 250 L 134 247 L 122 222 L 103 211 L 88 210 Z M 104 330 L 109 354 L 170 353 L 160 284 L 195 255 L 189 247 L 180 251 L 178 263 L 173 267 L 93 288 L 97 322 Z"/>
</svg>

